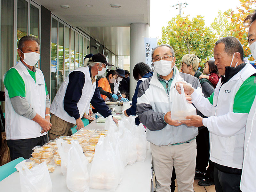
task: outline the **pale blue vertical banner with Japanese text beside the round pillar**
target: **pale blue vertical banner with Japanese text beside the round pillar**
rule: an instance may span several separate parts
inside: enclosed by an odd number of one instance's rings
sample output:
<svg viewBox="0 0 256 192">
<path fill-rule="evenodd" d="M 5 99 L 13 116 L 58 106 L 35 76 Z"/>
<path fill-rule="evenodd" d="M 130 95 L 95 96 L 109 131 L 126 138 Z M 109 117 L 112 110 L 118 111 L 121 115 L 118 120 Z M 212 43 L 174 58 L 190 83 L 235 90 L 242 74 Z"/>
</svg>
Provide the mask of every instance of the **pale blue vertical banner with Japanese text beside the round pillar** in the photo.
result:
<svg viewBox="0 0 256 192">
<path fill-rule="evenodd" d="M 152 49 L 156 47 L 156 44 L 157 38 L 144 37 L 146 64 L 150 67 L 152 71 L 154 71 L 154 65 L 153 62 L 151 61 L 151 53 Z"/>
</svg>

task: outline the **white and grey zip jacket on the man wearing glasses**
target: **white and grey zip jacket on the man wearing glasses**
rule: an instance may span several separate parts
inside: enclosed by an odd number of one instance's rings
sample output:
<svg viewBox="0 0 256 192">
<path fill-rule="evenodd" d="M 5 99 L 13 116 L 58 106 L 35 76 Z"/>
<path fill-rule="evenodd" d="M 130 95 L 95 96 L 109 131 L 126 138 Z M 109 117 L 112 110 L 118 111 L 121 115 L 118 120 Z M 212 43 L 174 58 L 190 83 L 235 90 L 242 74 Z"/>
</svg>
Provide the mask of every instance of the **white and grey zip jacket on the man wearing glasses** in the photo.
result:
<svg viewBox="0 0 256 192">
<path fill-rule="evenodd" d="M 184 124 L 176 127 L 164 123 L 164 115 L 172 108 L 172 97 L 174 97 L 176 82 L 189 82 L 197 89 L 199 94 L 203 94 L 196 77 L 180 73 L 176 67 L 173 70 L 175 76 L 171 83 L 169 95 L 157 79 L 156 71 L 154 71 L 152 77 L 144 80 L 139 86 L 136 114 L 139 116 L 140 122 L 147 127 L 147 140 L 157 146 L 184 143 L 198 135 L 197 127 L 188 127 Z"/>
</svg>

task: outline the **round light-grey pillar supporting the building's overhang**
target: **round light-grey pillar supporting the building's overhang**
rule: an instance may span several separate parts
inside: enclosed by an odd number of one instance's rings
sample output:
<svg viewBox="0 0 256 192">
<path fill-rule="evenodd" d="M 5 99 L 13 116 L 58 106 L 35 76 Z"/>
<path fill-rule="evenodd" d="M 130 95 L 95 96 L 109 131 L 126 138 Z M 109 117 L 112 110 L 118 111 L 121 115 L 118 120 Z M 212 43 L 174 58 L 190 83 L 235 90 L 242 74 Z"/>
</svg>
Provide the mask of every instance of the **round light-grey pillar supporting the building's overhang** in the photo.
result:
<svg viewBox="0 0 256 192">
<path fill-rule="evenodd" d="M 137 81 L 133 78 L 132 71 L 139 62 L 146 61 L 144 37 L 149 36 L 149 24 L 130 24 L 130 100 L 134 94 Z"/>
</svg>

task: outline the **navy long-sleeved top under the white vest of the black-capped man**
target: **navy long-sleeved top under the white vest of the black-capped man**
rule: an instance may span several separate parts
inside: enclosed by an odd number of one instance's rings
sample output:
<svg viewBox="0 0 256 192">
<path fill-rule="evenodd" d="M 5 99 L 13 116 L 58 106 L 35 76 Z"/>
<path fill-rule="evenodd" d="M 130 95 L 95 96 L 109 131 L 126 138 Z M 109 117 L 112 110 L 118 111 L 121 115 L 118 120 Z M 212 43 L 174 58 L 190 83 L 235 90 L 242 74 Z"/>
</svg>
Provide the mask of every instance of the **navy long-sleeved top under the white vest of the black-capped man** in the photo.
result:
<svg viewBox="0 0 256 192">
<path fill-rule="evenodd" d="M 92 77 L 91 68 L 89 68 L 90 76 Z M 76 103 L 80 100 L 82 96 L 82 89 L 84 87 L 84 73 L 81 71 L 74 71 L 69 74 L 69 82 L 64 97 L 64 109 L 69 116 L 78 119 L 79 109 Z M 100 91 L 98 89 L 98 81 L 96 80 L 95 92 L 91 100 L 92 106 L 104 117 L 108 117 L 111 114 L 111 110 L 106 105 L 105 101 L 100 96 Z"/>
</svg>

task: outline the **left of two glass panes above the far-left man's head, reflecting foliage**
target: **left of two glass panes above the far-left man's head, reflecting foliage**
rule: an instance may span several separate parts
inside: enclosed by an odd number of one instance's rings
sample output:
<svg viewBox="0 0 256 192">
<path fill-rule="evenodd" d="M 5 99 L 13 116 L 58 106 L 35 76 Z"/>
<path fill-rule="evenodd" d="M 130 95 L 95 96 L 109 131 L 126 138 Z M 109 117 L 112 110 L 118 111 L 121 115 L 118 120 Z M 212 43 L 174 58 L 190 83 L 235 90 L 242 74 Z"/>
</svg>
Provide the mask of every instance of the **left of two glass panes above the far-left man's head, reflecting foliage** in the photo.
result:
<svg viewBox="0 0 256 192">
<path fill-rule="evenodd" d="M 25 0 L 18 0 L 17 2 L 17 48 L 20 38 L 28 34 L 28 2 Z M 20 60 L 18 52 L 17 63 Z"/>
</svg>

